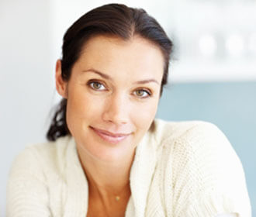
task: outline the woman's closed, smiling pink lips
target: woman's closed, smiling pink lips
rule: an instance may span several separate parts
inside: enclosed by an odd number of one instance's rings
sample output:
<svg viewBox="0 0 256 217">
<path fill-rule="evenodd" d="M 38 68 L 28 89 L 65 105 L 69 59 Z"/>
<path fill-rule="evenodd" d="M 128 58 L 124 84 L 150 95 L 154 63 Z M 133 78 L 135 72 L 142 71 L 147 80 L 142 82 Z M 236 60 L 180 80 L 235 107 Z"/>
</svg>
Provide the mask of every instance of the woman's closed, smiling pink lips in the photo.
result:
<svg viewBox="0 0 256 217">
<path fill-rule="evenodd" d="M 90 128 L 100 137 L 102 140 L 105 140 L 109 143 L 120 143 L 125 140 L 131 133 L 111 133 L 103 129 L 96 129 L 92 126 Z"/>
</svg>

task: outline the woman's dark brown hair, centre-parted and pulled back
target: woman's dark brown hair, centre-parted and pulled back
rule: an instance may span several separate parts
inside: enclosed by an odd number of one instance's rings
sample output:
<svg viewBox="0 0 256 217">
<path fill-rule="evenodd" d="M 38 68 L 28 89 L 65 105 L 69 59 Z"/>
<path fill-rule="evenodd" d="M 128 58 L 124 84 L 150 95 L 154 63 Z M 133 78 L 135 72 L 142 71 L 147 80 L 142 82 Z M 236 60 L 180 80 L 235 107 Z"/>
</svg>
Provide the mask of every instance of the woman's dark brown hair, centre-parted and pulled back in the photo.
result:
<svg viewBox="0 0 256 217">
<path fill-rule="evenodd" d="M 130 40 L 138 35 L 159 47 L 164 56 L 164 71 L 161 93 L 168 80 L 168 67 L 172 50 L 171 40 L 159 23 L 144 9 L 133 9 L 121 4 L 103 5 L 85 13 L 64 34 L 62 46 L 62 78 L 69 81 L 71 69 L 81 54 L 85 43 L 93 36 L 118 36 Z M 66 122 L 67 99 L 63 98 L 57 107 L 47 132 L 47 140 L 70 134 Z"/>
</svg>

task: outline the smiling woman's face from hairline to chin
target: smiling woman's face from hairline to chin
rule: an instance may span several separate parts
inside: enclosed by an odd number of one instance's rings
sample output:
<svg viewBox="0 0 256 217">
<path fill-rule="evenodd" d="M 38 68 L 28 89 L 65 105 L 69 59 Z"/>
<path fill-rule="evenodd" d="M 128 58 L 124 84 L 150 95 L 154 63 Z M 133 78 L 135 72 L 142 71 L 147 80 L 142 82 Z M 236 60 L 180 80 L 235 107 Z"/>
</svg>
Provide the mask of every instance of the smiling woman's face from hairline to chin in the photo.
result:
<svg viewBox="0 0 256 217">
<path fill-rule="evenodd" d="M 105 161 L 133 154 L 157 112 L 163 71 L 161 50 L 139 36 L 89 40 L 58 89 L 78 150 Z"/>
</svg>

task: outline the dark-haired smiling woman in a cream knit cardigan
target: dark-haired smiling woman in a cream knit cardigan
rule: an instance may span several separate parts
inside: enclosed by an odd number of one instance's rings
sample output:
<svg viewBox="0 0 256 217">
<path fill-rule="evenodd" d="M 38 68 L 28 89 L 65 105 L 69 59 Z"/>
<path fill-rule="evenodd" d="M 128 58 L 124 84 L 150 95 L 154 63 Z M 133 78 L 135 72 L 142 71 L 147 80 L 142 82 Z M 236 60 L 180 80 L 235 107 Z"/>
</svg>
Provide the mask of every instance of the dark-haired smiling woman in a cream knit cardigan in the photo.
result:
<svg viewBox="0 0 256 217">
<path fill-rule="evenodd" d="M 67 29 L 49 143 L 16 157 L 8 216 L 251 216 L 243 167 L 207 122 L 154 119 L 172 43 L 142 9 Z"/>
</svg>

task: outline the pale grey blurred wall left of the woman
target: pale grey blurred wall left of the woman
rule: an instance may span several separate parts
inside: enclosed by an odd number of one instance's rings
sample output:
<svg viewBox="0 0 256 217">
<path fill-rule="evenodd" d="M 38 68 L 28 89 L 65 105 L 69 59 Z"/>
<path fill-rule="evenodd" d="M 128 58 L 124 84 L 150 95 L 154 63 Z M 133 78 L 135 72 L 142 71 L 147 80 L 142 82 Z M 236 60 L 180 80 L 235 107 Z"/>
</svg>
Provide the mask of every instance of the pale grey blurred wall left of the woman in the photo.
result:
<svg viewBox="0 0 256 217">
<path fill-rule="evenodd" d="M 54 98 L 50 1 L 0 2 L 0 216 L 13 158 L 43 140 Z"/>
</svg>

